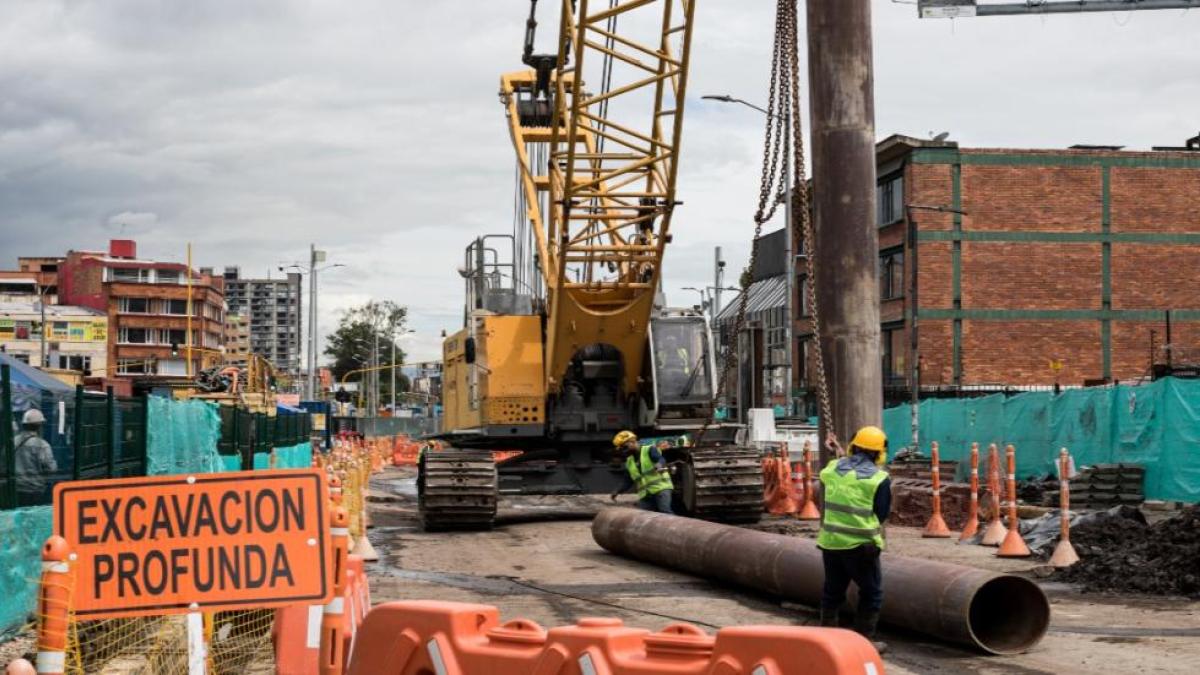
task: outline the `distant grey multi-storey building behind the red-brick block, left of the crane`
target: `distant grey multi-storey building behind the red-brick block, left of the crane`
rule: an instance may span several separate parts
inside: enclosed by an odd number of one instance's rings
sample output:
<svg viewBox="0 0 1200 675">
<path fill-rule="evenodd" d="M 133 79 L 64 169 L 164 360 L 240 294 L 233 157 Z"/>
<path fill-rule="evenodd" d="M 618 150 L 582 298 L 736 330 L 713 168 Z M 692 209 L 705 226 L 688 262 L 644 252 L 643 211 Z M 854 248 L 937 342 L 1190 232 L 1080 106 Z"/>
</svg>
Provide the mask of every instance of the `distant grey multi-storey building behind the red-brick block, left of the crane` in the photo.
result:
<svg viewBox="0 0 1200 675">
<path fill-rule="evenodd" d="M 224 269 L 229 313 L 250 322 L 250 351 L 282 372 L 300 372 L 300 280 L 290 273 L 280 279 L 242 279 L 236 267 Z"/>
</svg>

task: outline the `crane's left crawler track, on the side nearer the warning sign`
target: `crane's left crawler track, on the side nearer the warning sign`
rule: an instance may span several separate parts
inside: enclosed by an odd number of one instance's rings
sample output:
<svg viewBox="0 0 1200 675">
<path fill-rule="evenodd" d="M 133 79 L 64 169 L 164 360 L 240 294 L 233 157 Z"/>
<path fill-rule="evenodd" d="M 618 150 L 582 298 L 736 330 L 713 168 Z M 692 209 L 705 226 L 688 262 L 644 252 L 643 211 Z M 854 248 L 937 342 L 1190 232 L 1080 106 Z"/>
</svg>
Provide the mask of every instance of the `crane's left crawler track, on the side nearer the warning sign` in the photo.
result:
<svg viewBox="0 0 1200 675">
<path fill-rule="evenodd" d="M 497 485 L 491 450 L 425 453 L 416 480 L 421 525 L 427 532 L 490 530 L 496 520 Z"/>
</svg>

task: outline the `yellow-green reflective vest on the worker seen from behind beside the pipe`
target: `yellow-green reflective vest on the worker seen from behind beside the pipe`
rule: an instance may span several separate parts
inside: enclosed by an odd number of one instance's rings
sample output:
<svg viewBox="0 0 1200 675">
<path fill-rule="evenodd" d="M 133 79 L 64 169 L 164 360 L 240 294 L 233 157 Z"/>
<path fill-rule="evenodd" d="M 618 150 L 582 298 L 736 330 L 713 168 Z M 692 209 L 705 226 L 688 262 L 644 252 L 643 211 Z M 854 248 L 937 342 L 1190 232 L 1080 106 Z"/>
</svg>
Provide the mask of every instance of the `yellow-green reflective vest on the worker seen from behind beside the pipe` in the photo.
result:
<svg viewBox="0 0 1200 675">
<path fill-rule="evenodd" d="M 860 478 L 854 467 L 839 473 L 838 464 L 844 461 L 850 460 L 835 459 L 821 471 L 824 514 L 821 516 L 817 546 L 846 550 L 875 544 L 882 550 L 883 526 L 875 515 L 875 492 L 887 480 L 888 472 L 872 466 L 875 471 L 866 478 Z"/>
</svg>

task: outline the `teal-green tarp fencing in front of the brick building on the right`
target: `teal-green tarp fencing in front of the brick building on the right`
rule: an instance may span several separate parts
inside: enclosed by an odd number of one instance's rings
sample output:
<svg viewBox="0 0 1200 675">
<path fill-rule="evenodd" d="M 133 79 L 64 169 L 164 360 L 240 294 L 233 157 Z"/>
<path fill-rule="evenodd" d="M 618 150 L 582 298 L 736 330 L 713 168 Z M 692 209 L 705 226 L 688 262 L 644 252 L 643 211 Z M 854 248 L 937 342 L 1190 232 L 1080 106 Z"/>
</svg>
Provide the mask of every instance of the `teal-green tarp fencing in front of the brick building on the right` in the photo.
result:
<svg viewBox="0 0 1200 675">
<path fill-rule="evenodd" d="M 1146 467 L 1146 498 L 1200 502 L 1200 381 L 1168 377 L 1142 386 L 1070 389 L 1058 395 L 928 399 L 920 402 L 920 449 L 937 441 L 942 459 L 962 460 L 978 442 L 1016 448 L 1021 478 L 1054 472 L 1061 448 L 1076 466 Z M 883 411 L 893 448 L 910 444 L 911 408 Z"/>
</svg>

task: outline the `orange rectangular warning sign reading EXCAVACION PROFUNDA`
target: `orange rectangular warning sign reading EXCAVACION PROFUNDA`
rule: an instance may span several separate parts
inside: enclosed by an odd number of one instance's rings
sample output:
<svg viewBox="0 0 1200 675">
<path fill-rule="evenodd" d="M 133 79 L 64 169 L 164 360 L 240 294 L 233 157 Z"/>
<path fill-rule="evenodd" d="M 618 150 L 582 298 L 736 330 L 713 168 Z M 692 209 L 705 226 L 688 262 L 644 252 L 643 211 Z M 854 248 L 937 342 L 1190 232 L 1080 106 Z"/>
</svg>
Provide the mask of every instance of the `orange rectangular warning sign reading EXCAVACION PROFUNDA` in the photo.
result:
<svg viewBox="0 0 1200 675">
<path fill-rule="evenodd" d="M 79 619 L 320 604 L 329 489 L 319 470 L 59 483 Z"/>
</svg>

